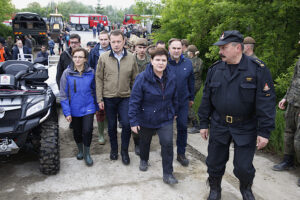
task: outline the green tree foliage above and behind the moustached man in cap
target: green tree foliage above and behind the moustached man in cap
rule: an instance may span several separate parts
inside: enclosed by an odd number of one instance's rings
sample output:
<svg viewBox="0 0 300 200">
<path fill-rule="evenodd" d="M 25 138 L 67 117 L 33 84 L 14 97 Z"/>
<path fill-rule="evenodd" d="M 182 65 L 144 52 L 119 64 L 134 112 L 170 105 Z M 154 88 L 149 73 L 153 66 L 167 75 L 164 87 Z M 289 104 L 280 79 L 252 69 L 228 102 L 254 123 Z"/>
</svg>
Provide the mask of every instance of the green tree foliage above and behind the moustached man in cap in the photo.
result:
<svg viewBox="0 0 300 200">
<path fill-rule="evenodd" d="M 273 79 L 286 72 L 300 54 L 295 48 L 300 32 L 300 1 L 165 0 L 161 29 L 155 40 L 187 38 L 195 44 L 206 68 L 214 63 L 218 48 L 212 46 L 225 30 L 239 30 L 256 40 L 256 55 L 270 69 Z"/>
</svg>

